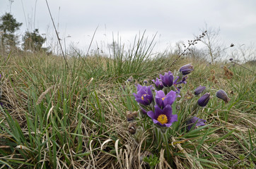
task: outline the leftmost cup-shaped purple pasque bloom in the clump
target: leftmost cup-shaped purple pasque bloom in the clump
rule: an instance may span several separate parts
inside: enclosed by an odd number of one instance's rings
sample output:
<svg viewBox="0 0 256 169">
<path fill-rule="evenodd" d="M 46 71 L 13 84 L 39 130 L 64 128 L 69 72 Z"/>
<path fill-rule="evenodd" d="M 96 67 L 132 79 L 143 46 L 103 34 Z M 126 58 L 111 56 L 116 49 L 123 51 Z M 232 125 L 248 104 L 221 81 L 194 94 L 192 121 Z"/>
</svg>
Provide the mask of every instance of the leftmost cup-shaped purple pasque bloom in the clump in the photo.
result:
<svg viewBox="0 0 256 169">
<path fill-rule="evenodd" d="M 152 86 L 141 86 L 140 84 L 137 85 L 137 94 L 134 93 L 134 97 L 139 104 L 143 104 L 145 106 L 151 104 L 153 100 L 151 87 Z"/>
</svg>

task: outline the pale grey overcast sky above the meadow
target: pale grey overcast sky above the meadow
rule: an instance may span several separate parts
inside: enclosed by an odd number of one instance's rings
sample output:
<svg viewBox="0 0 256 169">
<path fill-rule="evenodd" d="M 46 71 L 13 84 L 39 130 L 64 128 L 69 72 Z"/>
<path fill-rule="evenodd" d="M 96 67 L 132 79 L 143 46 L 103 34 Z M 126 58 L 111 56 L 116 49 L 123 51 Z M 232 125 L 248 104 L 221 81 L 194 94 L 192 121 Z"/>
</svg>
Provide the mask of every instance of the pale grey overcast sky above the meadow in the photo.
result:
<svg viewBox="0 0 256 169">
<path fill-rule="evenodd" d="M 256 42 L 256 0 L 48 0 L 62 43 L 87 50 L 96 27 L 96 42 L 104 48 L 117 34 L 127 46 L 139 32 L 156 35 L 156 50 L 193 39 L 205 27 L 220 28 L 227 45 Z M 0 15 L 10 12 L 23 23 L 20 34 L 38 28 L 47 44 L 56 40 L 45 0 L 0 0 Z M 68 36 L 71 37 L 68 37 Z M 53 40 L 52 40 L 53 39 Z"/>
</svg>

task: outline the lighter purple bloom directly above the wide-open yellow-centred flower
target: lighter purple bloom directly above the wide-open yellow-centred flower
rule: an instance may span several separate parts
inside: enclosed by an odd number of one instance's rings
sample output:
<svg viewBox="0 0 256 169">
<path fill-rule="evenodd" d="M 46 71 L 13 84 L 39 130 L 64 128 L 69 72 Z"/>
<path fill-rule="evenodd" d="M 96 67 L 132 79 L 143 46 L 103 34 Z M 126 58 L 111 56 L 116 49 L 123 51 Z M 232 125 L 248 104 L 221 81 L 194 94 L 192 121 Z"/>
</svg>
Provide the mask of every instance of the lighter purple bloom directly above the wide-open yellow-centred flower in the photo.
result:
<svg viewBox="0 0 256 169">
<path fill-rule="evenodd" d="M 176 99 L 176 92 L 171 90 L 168 94 L 165 96 L 165 92 L 162 90 L 156 91 L 156 104 L 160 108 L 164 108 L 167 105 L 172 105 L 173 102 Z"/>
</svg>

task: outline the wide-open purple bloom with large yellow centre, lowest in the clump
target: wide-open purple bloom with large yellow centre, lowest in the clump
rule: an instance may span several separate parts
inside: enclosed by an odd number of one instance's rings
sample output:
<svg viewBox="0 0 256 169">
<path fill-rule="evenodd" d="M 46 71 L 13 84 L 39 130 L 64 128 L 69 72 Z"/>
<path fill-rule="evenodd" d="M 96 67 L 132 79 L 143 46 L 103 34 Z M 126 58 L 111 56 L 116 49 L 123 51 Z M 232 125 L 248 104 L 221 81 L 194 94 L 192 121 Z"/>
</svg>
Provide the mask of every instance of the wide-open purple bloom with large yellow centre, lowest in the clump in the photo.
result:
<svg viewBox="0 0 256 169">
<path fill-rule="evenodd" d="M 173 115 L 173 109 L 170 105 L 165 106 L 163 110 L 156 105 L 155 112 L 149 111 L 147 114 L 153 123 L 161 127 L 170 127 L 178 120 L 178 115 Z"/>
</svg>

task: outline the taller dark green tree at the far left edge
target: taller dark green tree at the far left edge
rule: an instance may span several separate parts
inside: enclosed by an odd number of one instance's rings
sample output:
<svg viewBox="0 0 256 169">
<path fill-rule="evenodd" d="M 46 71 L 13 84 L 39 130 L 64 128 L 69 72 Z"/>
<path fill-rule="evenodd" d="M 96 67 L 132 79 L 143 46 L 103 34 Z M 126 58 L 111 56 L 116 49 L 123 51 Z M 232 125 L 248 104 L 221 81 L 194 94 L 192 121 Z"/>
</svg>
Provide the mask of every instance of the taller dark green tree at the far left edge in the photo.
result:
<svg viewBox="0 0 256 169">
<path fill-rule="evenodd" d="M 1 48 L 6 49 L 8 46 L 16 46 L 18 44 L 18 36 L 14 35 L 19 30 L 22 23 L 18 23 L 11 13 L 5 13 L 0 17 L 0 38 Z"/>
</svg>

